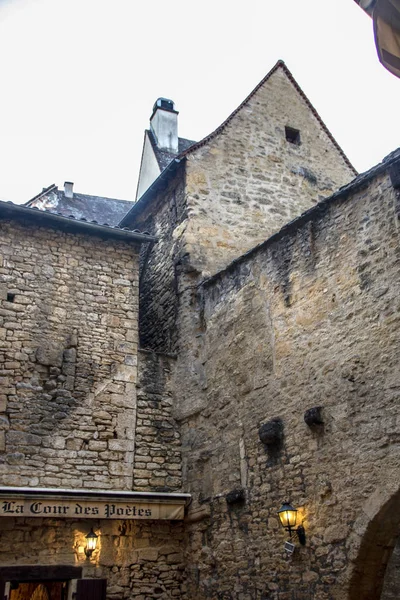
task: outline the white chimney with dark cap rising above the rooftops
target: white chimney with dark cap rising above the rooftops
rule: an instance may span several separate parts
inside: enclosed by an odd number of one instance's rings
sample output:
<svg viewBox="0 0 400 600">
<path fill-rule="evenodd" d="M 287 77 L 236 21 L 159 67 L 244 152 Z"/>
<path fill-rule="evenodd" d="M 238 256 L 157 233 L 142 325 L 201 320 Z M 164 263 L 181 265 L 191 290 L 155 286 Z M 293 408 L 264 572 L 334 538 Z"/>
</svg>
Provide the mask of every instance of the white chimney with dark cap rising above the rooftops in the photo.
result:
<svg viewBox="0 0 400 600">
<path fill-rule="evenodd" d="M 178 153 L 178 112 L 172 100 L 158 98 L 150 117 L 150 128 L 160 150 Z"/>
</svg>

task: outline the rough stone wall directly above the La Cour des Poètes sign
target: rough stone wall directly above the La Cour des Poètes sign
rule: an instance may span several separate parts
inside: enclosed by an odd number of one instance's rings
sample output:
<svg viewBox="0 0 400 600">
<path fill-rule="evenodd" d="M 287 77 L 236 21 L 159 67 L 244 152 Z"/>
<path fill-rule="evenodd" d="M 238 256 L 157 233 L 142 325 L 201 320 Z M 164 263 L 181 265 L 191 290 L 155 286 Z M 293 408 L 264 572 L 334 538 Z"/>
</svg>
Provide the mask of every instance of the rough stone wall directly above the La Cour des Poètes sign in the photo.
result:
<svg viewBox="0 0 400 600">
<path fill-rule="evenodd" d="M 132 489 L 138 248 L 1 224 L 1 484 Z"/>
</svg>

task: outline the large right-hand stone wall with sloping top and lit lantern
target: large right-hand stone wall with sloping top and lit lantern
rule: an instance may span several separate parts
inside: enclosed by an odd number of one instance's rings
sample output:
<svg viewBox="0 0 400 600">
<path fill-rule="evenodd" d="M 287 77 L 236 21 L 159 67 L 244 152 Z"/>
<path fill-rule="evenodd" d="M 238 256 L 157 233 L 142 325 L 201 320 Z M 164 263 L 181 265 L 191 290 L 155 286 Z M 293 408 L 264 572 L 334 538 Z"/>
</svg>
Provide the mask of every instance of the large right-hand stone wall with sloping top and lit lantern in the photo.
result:
<svg viewBox="0 0 400 600">
<path fill-rule="evenodd" d="M 371 515 L 389 506 L 384 490 L 399 493 L 398 218 L 382 175 L 200 290 L 202 333 L 175 381 L 191 598 L 375 600 L 350 596 L 349 582 Z M 318 406 L 323 424 L 307 425 Z M 284 435 L 268 446 L 259 428 L 273 419 Z M 276 514 L 284 501 L 307 534 L 293 556 Z"/>
</svg>

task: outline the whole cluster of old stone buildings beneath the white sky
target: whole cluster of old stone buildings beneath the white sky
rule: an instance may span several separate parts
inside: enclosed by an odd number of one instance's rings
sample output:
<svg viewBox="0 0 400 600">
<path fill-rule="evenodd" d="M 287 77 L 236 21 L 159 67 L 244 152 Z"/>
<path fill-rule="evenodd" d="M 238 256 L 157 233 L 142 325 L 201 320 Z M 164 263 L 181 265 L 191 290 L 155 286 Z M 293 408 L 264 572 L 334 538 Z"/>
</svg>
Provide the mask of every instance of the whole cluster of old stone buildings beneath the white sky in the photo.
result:
<svg viewBox="0 0 400 600">
<path fill-rule="evenodd" d="M 135 204 L 1 206 L 10 600 L 399 597 L 399 189 L 279 61 L 198 143 L 157 101 Z"/>
</svg>

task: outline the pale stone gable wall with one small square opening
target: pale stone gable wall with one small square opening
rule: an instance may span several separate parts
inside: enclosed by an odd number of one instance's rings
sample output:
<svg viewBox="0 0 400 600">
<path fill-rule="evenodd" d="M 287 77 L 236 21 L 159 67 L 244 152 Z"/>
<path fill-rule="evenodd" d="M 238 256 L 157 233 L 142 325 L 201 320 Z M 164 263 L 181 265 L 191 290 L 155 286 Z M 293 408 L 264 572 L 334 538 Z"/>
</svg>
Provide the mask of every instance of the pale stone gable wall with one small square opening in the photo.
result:
<svg viewBox="0 0 400 600">
<path fill-rule="evenodd" d="M 299 145 L 285 127 L 300 130 Z M 355 176 L 278 68 L 187 162 L 190 264 L 215 273 Z"/>
</svg>

